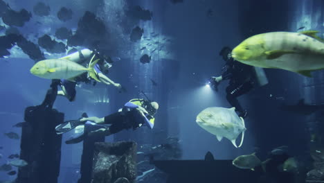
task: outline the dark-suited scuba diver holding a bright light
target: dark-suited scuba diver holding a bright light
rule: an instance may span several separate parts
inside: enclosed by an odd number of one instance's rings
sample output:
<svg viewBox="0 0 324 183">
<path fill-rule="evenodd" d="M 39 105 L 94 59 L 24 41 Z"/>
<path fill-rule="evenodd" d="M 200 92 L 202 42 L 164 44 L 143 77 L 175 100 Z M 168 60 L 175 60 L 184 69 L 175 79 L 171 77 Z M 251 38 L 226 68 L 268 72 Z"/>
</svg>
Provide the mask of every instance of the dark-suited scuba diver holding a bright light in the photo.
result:
<svg viewBox="0 0 324 183">
<path fill-rule="evenodd" d="M 245 118 L 247 111 L 240 105 L 237 97 L 251 91 L 255 84 L 260 86 L 266 85 L 268 80 L 263 69 L 257 69 L 247 64 L 242 64 L 241 62 L 235 62 L 231 57 L 231 52 L 232 49 L 227 46 L 219 52 L 219 55 L 221 55 L 226 62 L 222 68 L 222 71 L 225 71 L 221 76 L 211 77 L 209 83 L 210 86 L 217 91 L 217 87 L 222 80 L 229 80 L 229 85 L 226 87 L 226 99 L 228 103 L 235 107 L 235 111 L 239 112 L 239 116 Z M 255 75 L 258 79 L 256 82 L 258 83 L 255 83 Z"/>
</svg>

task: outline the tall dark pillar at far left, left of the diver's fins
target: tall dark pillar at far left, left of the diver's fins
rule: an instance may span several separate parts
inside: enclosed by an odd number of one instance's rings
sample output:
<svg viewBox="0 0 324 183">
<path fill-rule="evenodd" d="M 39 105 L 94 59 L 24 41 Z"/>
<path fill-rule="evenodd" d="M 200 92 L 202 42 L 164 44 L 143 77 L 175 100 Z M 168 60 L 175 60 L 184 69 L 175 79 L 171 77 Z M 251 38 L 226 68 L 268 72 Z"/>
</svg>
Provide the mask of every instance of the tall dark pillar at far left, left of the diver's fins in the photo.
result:
<svg viewBox="0 0 324 183">
<path fill-rule="evenodd" d="M 63 123 L 64 114 L 48 107 L 32 106 L 25 110 L 21 132 L 20 159 L 28 162 L 19 168 L 17 182 L 57 183 L 60 173 L 62 136 L 55 126 Z"/>
</svg>

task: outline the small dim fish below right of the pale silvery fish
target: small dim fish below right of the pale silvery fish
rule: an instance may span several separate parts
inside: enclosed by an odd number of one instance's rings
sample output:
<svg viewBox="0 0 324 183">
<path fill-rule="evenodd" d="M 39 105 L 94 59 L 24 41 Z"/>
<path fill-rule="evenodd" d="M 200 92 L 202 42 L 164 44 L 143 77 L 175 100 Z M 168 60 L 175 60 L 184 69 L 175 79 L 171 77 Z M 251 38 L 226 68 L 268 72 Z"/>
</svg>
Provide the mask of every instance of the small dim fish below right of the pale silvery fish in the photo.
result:
<svg viewBox="0 0 324 183">
<path fill-rule="evenodd" d="M 254 168 L 256 166 L 262 166 L 262 169 L 265 171 L 265 164 L 269 159 L 267 159 L 264 162 L 261 162 L 261 160 L 255 156 L 255 153 L 252 153 L 251 155 L 241 155 L 239 157 L 236 157 L 232 164 L 236 166 L 237 168 L 242 168 L 242 169 L 251 169 L 254 171 Z"/>
</svg>

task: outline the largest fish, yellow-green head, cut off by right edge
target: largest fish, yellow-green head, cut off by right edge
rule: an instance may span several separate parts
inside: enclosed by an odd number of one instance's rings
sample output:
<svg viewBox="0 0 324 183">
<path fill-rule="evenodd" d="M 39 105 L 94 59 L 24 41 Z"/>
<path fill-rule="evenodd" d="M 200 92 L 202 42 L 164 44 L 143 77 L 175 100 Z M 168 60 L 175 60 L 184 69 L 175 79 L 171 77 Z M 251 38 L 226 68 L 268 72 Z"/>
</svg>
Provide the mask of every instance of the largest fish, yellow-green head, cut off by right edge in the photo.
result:
<svg viewBox="0 0 324 183">
<path fill-rule="evenodd" d="M 324 69 L 324 42 L 318 31 L 273 32 L 247 38 L 232 51 L 232 57 L 255 67 L 284 69 L 311 77 Z"/>
</svg>

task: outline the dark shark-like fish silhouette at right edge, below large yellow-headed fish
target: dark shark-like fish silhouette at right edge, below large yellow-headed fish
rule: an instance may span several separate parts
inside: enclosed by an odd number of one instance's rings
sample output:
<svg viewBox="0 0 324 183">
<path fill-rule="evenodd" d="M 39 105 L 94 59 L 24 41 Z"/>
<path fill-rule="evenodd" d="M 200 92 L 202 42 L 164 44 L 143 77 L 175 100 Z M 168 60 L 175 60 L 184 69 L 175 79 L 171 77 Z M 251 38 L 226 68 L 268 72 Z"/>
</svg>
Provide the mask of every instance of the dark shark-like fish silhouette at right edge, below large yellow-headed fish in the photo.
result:
<svg viewBox="0 0 324 183">
<path fill-rule="evenodd" d="M 296 105 L 281 105 L 281 110 L 300 115 L 310 115 L 314 112 L 324 110 L 324 105 L 308 105 L 305 100 L 301 99 Z"/>
</svg>

